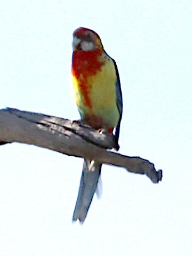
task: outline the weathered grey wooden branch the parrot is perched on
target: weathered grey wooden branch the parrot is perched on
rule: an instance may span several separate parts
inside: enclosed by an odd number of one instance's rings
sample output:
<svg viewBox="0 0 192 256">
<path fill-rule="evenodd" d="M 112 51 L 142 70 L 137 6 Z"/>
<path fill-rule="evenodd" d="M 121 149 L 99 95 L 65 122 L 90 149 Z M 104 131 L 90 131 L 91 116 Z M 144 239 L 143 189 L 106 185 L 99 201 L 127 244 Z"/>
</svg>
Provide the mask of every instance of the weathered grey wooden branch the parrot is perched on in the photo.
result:
<svg viewBox="0 0 192 256">
<path fill-rule="evenodd" d="M 114 136 L 108 132 L 98 132 L 80 121 L 12 108 L 1 109 L 0 145 L 11 142 L 124 167 L 129 172 L 146 174 L 154 183 L 162 180 L 162 170 L 156 171 L 153 163 L 110 151 L 116 147 Z"/>
</svg>

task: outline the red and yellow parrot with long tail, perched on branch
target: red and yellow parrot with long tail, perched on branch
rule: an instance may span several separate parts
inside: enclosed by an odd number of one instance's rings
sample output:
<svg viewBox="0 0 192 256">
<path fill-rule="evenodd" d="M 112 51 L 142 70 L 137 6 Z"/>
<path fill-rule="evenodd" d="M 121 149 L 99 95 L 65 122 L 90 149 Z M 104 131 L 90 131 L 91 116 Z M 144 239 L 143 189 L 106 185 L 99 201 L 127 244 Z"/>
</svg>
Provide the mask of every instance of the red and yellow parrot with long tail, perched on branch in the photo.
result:
<svg viewBox="0 0 192 256">
<path fill-rule="evenodd" d="M 123 103 L 117 65 L 91 29 L 77 28 L 73 33 L 71 73 L 81 119 L 94 129 L 112 133 L 115 128 L 118 142 Z M 84 222 L 100 174 L 100 163 L 84 159 L 73 221 Z"/>
</svg>

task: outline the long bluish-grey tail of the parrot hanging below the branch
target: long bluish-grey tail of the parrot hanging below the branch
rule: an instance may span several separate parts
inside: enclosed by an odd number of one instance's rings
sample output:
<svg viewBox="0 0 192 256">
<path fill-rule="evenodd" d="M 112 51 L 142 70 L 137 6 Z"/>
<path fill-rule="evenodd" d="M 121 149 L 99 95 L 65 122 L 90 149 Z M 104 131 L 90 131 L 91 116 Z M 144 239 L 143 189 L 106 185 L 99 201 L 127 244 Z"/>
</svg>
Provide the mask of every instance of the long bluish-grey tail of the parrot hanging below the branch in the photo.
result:
<svg viewBox="0 0 192 256">
<path fill-rule="evenodd" d="M 82 223 L 84 222 L 97 189 L 100 174 L 101 164 L 95 163 L 93 160 L 84 159 L 73 221 L 79 220 Z"/>
</svg>

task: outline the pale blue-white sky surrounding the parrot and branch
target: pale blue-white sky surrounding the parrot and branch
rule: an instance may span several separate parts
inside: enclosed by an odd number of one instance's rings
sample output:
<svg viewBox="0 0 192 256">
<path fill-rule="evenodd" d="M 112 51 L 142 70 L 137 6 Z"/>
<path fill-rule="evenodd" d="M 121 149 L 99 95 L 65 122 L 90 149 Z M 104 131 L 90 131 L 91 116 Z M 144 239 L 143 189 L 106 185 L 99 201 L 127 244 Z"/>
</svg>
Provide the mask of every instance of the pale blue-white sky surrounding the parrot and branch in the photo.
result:
<svg viewBox="0 0 192 256">
<path fill-rule="evenodd" d="M 78 119 L 73 31 L 91 28 L 116 60 L 123 91 L 120 153 L 163 170 L 103 165 L 103 195 L 72 223 L 83 159 L 0 147 L 0 255 L 191 255 L 191 0 L 1 0 L 0 108 Z"/>
</svg>

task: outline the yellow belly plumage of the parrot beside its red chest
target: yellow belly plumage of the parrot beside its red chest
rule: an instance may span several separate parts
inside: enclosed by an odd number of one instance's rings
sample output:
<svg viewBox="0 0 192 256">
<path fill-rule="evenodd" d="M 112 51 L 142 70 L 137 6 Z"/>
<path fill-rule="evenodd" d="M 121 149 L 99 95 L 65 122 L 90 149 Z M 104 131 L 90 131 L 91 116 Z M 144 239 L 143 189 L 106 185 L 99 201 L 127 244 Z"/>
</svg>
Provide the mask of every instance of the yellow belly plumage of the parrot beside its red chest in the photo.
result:
<svg viewBox="0 0 192 256">
<path fill-rule="evenodd" d="M 117 76 L 113 61 L 109 57 L 106 58 L 102 69 L 94 76 L 87 78 L 91 107 L 86 106 L 80 83 L 75 77 L 73 77 L 73 86 L 81 118 L 94 117 L 97 119 L 98 117 L 98 122 L 101 122 L 102 119 L 101 127 L 112 128 L 116 127 L 119 121 L 116 103 Z"/>
</svg>

